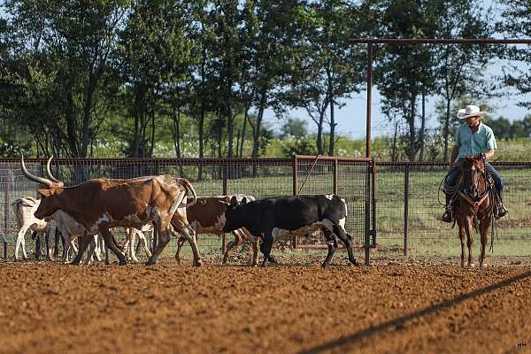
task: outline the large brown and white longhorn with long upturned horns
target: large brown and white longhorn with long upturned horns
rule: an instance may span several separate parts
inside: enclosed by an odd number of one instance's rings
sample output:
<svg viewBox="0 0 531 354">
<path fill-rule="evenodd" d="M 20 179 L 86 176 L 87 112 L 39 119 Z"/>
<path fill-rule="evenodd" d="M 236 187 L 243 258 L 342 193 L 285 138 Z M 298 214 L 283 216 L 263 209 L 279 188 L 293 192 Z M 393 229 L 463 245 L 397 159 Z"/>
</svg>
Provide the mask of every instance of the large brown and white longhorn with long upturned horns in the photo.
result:
<svg viewBox="0 0 531 354">
<path fill-rule="evenodd" d="M 50 173 L 50 160 L 47 173 Z M 131 180 L 95 179 L 77 186 L 64 187 L 62 181 L 53 181 L 37 177 L 27 171 L 24 157 L 20 161 L 22 173 L 37 183 L 46 186 L 38 189 L 42 201 L 35 212 L 35 218 L 50 217 L 57 210 L 69 214 L 88 230 L 89 234 L 98 232 L 103 235 L 107 248 L 119 258 L 119 264 L 127 264 L 127 258 L 115 244 L 111 227 L 135 227 L 155 222 L 158 233 L 158 246 L 146 266 L 156 263 L 158 256 L 170 241 L 174 231 L 184 235 L 192 246 L 194 264 L 201 265 L 197 250 L 196 235 L 189 227 L 186 208 L 179 208 L 182 199 L 187 195 L 196 199 L 196 191 L 191 183 L 183 178 L 175 179 L 171 175 L 139 177 Z M 170 227 L 175 216 L 178 222 Z M 89 237 L 84 237 L 73 264 L 79 265 L 83 252 L 89 245 Z"/>
</svg>

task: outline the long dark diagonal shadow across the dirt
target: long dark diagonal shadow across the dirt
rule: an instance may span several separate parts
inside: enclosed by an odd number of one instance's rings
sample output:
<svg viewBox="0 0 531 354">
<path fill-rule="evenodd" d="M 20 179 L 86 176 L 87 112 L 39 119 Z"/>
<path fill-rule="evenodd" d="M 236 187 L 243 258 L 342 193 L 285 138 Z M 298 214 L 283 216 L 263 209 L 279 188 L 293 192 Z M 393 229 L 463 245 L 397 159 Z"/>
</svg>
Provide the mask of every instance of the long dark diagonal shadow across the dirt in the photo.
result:
<svg viewBox="0 0 531 354">
<path fill-rule="evenodd" d="M 342 345 L 353 344 L 354 342 L 357 342 L 360 339 L 363 339 L 363 338 L 368 337 L 370 335 L 377 335 L 379 332 L 382 332 L 382 331 L 384 331 L 386 329 L 389 329 L 389 328 L 392 328 L 392 327 L 402 327 L 402 326 L 404 326 L 404 323 L 409 321 L 409 320 L 416 319 L 416 318 L 419 318 L 419 317 L 422 317 L 422 316 L 426 316 L 426 315 L 428 315 L 428 314 L 430 314 L 432 312 L 438 312 L 438 311 L 444 310 L 444 309 L 449 308 L 449 307 L 451 307 L 453 305 L 462 303 L 463 301 L 465 301 L 465 300 L 467 300 L 469 298 L 472 298 L 472 297 L 475 297 L 475 296 L 481 296 L 482 294 L 488 293 L 489 291 L 493 291 L 493 290 L 496 290 L 496 289 L 504 288 L 507 285 L 512 284 L 513 282 L 522 281 L 522 280 L 524 280 L 526 278 L 529 278 L 529 277 L 531 277 L 531 271 L 530 272 L 526 272 L 526 273 L 521 273 L 519 275 L 513 276 L 512 278 L 505 279 L 504 281 L 496 282 L 495 284 L 489 285 L 486 288 L 477 289 L 477 290 L 471 291 L 469 293 L 466 293 L 466 294 L 463 294 L 463 295 L 460 295 L 460 296 L 456 296 L 456 297 L 448 299 L 448 300 L 444 300 L 443 302 L 441 302 L 439 304 L 435 304 L 433 306 L 426 307 L 426 308 L 424 308 L 422 310 L 419 310 L 417 312 L 412 312 L 412 313 L 409 313 L 407 315 L 398 317 L 396 319 L 391 319 L 391 320 L 389 320 L 387 322 L 382 323 L 381 325 L 368 327 L 368 328 L 363 329 L 361 331 L 358 331 L 358 332 L 356 332 L 356 333 L 354 333 L 352 335 L 347 335 L 347 336 L 338 338 L 338 339 L 336 339 L 334 341 L 331 341 L 331 342 L 326 342 L 326 343 L 323 343 L 323 344 L 319 344 L 318 346 L 313 347 L 313 348 L 311 348 L 309 350 L 301 350 L 298 353 L 299 354 L 316 354 L 316 353 L 324 352 L 326 350 L 336 350 L 336 349 L 339 349 L 339 347 L 341 347 Z"/>
</svg>

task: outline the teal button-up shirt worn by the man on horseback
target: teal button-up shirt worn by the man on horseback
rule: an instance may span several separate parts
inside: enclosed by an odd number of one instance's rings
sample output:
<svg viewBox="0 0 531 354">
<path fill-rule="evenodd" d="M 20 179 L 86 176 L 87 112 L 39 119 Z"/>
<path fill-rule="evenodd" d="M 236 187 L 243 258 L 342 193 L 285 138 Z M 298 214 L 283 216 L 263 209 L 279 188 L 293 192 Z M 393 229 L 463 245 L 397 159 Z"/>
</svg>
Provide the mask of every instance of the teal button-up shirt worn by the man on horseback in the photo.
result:
<svg viewBox="0 0 531 354">
<path fill-rule="evenodd" d="M 466 124 L 460 125 L 456 132 L 456 145 L 459 148 L 458 158 L 465 158 L 466 156 L 497 149 L 496 138 L 492 129 L 481 122 L 475 133 L 472 133 L 472 130 Z"/>
</svg>

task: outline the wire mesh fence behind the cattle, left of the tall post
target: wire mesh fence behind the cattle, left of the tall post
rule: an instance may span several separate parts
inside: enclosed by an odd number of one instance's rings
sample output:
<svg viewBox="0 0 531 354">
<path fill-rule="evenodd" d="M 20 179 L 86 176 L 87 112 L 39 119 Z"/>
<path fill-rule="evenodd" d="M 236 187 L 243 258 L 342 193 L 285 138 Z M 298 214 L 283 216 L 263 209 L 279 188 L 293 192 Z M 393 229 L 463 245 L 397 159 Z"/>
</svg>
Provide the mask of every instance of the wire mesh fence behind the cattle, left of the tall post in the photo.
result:
<svg viewBox="0 0 531 354">
<path fill-rule="evenodd" d="M 298 161 L 299 168 L 294 166 Z M 263 198 L 266 196 L 290 196 L 295 194 L 333 194 L 342 196 L 348 206 L 347 232 L 361 242 L 364 235 L 363 215 L 366 196 L 366 162 L 353 159 L 323 158 L 313 169 L 315 158 L 94 158 L 57 159 L 50 172 L 65 186 L 73 186 L 94 178 L 130 179 L 144 175 L 171 174 L 192 182 L 199 196 L 219 196 L 244 193 Z M 12 255 L 18 227 L 11 204 L 22 196 L 36 197 L 39 186 L 28 181 L 21 173 L 19 161 L 0 160 L 0 233 Z M 27 169 L 36 176 L 45 176 L 46 160 L 27 159 Z M 307 178 L 302 189 L 296 189 L 296 181 Z M 119 235 L 122 235 L 119 232 Z M 27 238 L 29 235 L 27 235 Z M 201 250 L 219 252 L 222 240 L 217 235 L 200 235 Z M 324 245 L 321 235 L 301 245 Z M 170 251 L 176 248 L 175 240 Z"/>
</svg>

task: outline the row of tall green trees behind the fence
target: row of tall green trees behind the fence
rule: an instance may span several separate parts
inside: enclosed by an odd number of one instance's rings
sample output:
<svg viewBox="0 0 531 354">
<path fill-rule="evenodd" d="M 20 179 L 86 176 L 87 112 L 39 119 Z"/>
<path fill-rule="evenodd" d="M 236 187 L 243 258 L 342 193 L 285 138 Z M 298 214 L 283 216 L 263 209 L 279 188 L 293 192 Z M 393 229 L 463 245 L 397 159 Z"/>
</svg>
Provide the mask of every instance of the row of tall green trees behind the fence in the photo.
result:
<svg viewBox="0 0 531 354">
<path fill-rule="evenodd" d="M 527 1 L 479 0 L 5 0 L 0 19 L 0 136 L 14 155 L 150 157 L 159 139 L 175 156 L 256 158 L 279 118 L 303 109 L 319 154 L 335 154 L 335 112 L 366 84 L 366 46 L 349 38 L 529 37 Z M 374 84 L 407 156 L 427 158 L 426 102 L 449 155 L 455 105 L 512 87 L 531 107 L 529 71 L 484 73 L 496 60 L 531 64 L 525 47 L 385 45 Z M 358 119 L 365 119 L 359 112 Z M 402 127 L 402 129 L 399 129 Z"/>
</svg>

